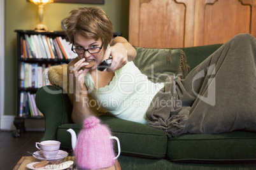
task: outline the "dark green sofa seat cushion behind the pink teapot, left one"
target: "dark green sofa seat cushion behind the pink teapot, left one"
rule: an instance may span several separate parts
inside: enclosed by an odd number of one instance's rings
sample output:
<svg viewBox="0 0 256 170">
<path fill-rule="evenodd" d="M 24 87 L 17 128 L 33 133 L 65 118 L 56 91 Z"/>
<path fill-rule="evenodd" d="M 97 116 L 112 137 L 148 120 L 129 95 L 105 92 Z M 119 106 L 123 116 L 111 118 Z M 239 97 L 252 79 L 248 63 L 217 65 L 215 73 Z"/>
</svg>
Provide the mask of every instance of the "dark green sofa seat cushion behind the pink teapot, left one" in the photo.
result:
<svg viewBox="0 0 256 170">
<path fill-rule="evenodd" d="M 166 156 L 167 136 L 163 131 L 139 124 L 125 121 L 117 117 L 100 117 L 103 124 L 107 124 L 113 136 L 120 140 L 121 153 L 160 159 Z M 57 140 L 62 148 L 71 148 L 71 135 L 66 130 L 72 128 L 76 134 L 82 128 L 82 124 L 62 124 L 57 131 Z"/>
</svg>

